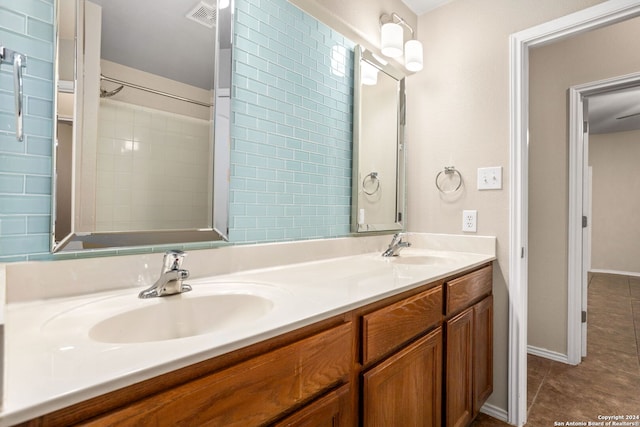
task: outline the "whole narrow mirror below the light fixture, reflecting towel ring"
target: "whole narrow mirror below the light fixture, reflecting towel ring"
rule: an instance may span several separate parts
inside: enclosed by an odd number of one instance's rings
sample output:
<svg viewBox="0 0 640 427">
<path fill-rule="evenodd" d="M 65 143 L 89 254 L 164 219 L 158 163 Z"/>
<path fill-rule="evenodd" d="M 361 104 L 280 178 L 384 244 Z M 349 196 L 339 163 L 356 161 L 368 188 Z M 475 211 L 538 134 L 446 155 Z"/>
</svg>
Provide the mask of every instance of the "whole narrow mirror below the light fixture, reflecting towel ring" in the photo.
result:
<svg viewBox="0 0 640 427">
<path fill-rule="evenodd" d="M 402 230 L 404 74 L 356 46 L 352 230 Z"/>
</svg>

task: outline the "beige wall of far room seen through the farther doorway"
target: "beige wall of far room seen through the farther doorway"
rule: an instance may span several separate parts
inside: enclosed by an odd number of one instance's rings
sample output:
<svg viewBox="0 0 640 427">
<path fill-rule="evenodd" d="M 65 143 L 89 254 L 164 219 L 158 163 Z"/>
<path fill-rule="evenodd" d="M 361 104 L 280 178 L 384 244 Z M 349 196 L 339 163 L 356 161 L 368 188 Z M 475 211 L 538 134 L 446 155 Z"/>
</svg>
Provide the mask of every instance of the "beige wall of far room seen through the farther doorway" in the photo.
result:
<svg viewBox="0 0 640 427">
<path fill-rule="evenodd" d="M 640 275 L 640 131 L 589 136 L 591 268 Z"/>
</svg>

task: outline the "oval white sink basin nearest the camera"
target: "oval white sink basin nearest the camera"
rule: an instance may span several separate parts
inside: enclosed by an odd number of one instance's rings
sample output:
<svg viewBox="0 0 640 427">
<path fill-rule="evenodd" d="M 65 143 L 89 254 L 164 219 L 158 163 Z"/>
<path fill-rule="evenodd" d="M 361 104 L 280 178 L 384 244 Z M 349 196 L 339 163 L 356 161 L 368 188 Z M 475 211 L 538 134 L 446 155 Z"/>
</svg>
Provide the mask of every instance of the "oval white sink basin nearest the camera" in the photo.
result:
<svg viewBox="0 0 640 427">
<path fill-rule="evenodd" d="M 193 291 L 192 291 L 193 292 Z M 273 301 L 251 294 L 187 294 L 158 298 L 152 305 L 108 317 L 89 330 L 106 343 L 164 341 L 245 326 L 273 309 Z"/>
</svg>

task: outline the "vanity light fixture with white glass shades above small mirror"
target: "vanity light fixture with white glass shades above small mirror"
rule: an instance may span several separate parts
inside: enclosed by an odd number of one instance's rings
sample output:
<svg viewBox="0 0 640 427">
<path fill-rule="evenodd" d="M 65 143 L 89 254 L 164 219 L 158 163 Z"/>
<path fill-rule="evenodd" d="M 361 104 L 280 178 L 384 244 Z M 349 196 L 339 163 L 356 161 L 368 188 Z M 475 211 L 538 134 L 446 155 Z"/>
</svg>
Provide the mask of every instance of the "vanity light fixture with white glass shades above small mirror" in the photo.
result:
<svg viewBox="0 0 640 427">
<path fill-rule="evenodd" d="M 380 16 L 380 51 L 390 58 L 397 58 L 404 53 L 404 66 L 407 70 L 416 72 L 422 70 L 422 43 L 415 39 L 415 32 L 411 25 L 392 12 L 391 15 L 383 13 Z M 411 40 L 404 43 L 405 26 L 411 31 Z M 403 49 L 404 44 L 404 49 Z"/>
</svg>

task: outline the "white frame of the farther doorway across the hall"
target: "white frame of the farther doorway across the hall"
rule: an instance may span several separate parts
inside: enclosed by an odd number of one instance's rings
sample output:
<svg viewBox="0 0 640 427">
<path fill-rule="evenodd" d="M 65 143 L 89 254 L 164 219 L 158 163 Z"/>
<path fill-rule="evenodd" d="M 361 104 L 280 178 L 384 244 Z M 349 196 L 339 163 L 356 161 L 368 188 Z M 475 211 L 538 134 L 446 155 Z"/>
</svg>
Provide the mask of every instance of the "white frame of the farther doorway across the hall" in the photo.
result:
<svg viewBox="0 0 640 427">
<path fill-rule="evenodd" d="M 568 307 L 567 307 L 567 358 L 568 362 L 580 363 L 586 331 L 582 327 L 582 310 L 586 310 L 586 261 L 591 248 L 584 236 L 582 215 L 590 191 L 588 145 L 584 143 L 584 100 L 592 95 L 640 85 L 640 72 L 584 83 L 569 88 L 569 263 L 568 263 Z M 585 252 L 585 250 L 587 252 Z"/>
</svg>

